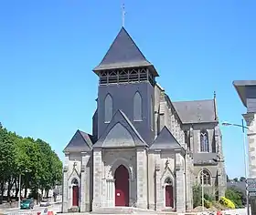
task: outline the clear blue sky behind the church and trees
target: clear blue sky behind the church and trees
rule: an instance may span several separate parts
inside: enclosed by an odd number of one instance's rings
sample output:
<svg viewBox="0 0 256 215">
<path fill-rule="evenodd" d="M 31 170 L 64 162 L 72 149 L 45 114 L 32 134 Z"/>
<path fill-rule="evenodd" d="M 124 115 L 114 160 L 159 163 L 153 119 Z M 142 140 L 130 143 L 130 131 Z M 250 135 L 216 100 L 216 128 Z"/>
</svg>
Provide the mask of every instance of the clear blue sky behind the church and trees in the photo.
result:
<svg viewBox="0 0 256 215">
<path fill-rule="evenodd" d="M 122 24 L 121 0 L 0 2 L 0 121 L 48 141 L 61 159 L 75 131 L 91 132 L 97 66 Z M 125 1 L 125 28 L 173 101 L 212 98 L 219 118 L 245 113 L 232 81 L 256 79 L 256 2 Z M 240 128 L 222 128 L 231 178 L 244 175 Z"/>
</svg>

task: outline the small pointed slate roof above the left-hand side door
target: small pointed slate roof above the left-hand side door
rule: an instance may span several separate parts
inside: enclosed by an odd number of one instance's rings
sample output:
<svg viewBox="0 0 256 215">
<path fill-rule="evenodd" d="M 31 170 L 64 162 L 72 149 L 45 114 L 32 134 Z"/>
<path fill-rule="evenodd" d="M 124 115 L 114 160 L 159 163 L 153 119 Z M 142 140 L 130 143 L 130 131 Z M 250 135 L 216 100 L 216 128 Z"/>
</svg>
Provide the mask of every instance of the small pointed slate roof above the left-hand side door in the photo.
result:
<svg viewBox="0 0 256 215">
<path fill-rule="evenodd" d="M 69 141 L 69 144 L 64 148 L 64 152 L 80 152 L 91 151 L 93 143 L 93 137 L 81 130 L 77 130 L 73 138 Z"/>
</svg>

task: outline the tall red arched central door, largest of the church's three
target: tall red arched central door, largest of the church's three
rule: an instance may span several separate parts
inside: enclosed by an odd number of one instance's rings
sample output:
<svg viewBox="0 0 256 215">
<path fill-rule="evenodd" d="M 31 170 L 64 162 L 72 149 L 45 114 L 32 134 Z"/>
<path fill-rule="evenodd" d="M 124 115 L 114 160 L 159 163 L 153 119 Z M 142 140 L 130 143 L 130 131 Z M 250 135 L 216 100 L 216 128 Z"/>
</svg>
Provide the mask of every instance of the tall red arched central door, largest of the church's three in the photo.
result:
<svg viewBox="0 0 256 215">
<path fill-rule="evenodd" d="M 115 206 L 129 206 L 129 172 L 123 165 L 114 173 Z"/>
</svg>

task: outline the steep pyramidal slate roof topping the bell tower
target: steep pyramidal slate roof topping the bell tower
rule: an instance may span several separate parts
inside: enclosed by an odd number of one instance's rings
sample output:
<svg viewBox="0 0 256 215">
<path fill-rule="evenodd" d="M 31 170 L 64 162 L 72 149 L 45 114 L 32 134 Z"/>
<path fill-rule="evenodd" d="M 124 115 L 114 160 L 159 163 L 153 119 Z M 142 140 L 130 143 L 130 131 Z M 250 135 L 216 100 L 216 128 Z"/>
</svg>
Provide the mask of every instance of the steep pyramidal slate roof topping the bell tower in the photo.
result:
<svg viewBox="0 0 256 215">
<path fill-rule="evenodd" d="M 158 77 L 155 67 L 145 58 L 132 37 L 122 27 L 100 65 L 95 67 L 93 71 L 97 73 L 100 70 L 128 67 L 149 67 L 153 74 Z"/>
</svg>

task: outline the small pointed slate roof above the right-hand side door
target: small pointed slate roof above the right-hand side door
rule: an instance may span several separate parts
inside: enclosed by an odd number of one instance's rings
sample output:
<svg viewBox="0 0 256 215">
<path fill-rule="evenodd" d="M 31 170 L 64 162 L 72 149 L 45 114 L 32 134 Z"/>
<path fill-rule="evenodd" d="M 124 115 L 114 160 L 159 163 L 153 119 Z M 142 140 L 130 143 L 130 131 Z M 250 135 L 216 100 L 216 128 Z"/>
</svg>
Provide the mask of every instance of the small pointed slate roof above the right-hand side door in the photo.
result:
<svg viewBox="0 0 256 215">
<path fill-rule="evenodd" d="M 162 128 L 157 138 L 149 149 L 180 149 L 181 145 L 176 141 L 170 130 Z"/>
</svg>

